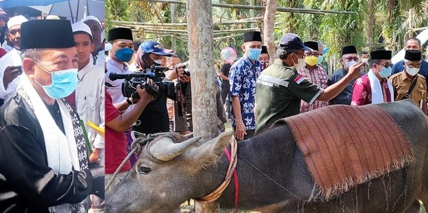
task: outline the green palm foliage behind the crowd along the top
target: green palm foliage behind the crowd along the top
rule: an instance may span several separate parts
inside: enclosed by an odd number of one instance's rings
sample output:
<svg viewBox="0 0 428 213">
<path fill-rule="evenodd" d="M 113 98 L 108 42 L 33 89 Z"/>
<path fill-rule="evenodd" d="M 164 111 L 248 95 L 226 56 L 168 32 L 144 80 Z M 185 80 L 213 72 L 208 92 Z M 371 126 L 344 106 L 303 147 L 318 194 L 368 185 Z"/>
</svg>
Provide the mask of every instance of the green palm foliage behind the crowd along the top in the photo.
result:
<svg viewBox="0 0 428 213">
<path fill-rule="evenodd" d="M 263 6 L 262 0 L 212 0 L 212 3 Z M 277 13 L 275 29 L 278 40 L 284 33 L 293 32 L 303 40 L 320 40 L 329 47 L 326 59 L 330 64 L 337 63 L 340 49 L 346 45 L 355 45 L 359 50 L 371 51 L 387 48 L 397 51 L 404 46 L 404 41 L 417 35 L 408 29 L 409 10 L 415 15 L 411 22 L 414 28 L 428 25 L 428 1 L 426 0 L 278 0 L 278 7 L 321 9 L 335 11 L 353 11 L 358 15 L 343 14 L 298 14 Z M 213 21 L 229 21 L 250 18 L 249 10 L 213 7 Z M 264 11 L 255 11 L 256 16 L 263 16 Z M 149 3 L 143 1 L 106 0 L 106 26 L 113 27 L 111 20 L 134 21 L 146 23 L 170 23 L 170 5 L 166 3 Z M 176 23 L 186 23 L 186 6 L 177 5 Z M 258 23 L 258 26 L 263 23 Z M 203 26 L 201 26 L 203 27 Z M 214 30 L 250 28 L 250 24 L 215 25 Z M 186 28 L 181 28 L 185 30 Z M 163 34 L 135 32 L 135 38 L 147 40 L 153 38 L 169 48 L 172 36 L 159 37 Z M 182 61 L 188 59 L 187 37 L 177 36 L 176 53 Z M 367 47 L 366 43 L 387 43 L 386 46 Z M 213 41 L 215 59 L 220 60 L 220 51 L 232 46 L 242 54 L 242 36 Z"/>
</svg>

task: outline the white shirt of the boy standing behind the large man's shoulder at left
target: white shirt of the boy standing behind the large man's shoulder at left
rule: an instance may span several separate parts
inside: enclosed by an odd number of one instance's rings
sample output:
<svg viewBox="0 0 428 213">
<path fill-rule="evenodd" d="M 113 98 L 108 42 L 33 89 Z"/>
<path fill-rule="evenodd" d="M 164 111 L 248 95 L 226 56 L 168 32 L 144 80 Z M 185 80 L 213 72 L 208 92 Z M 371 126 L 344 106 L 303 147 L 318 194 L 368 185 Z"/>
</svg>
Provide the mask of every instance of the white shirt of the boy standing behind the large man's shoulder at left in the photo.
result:
<svg viewBox="0 0 428 213">
<path fill-rule="evenodd" d="M 77 73 L 76 111 L 81 120 L 90 120 L 104 128 L 104 71 L 96 67 L 93 62 L 93 57 L 90 57 L 88 65 Z M 92 148 L 103 149 L 100 162 L 104 162 L 104 138 L 88 125 L 85 127 Z M 100 166 L 103 165 L 104 163 L 101 163 Z"/>
</svg>

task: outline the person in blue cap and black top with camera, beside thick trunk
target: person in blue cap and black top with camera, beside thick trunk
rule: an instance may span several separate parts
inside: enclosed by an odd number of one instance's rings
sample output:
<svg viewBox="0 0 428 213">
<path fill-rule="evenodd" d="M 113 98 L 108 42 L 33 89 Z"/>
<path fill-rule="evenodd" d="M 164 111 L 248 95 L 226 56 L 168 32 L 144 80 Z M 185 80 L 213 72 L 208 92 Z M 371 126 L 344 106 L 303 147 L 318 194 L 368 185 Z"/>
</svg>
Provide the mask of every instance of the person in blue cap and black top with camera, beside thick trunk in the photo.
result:
<svg viewBox="0 0 428 213">
<path fill-rule="evenodd" d="M 169 57 L 170 52 L 162 47 L 162 45 L 155 41 L 143 42 L 137 50 L 137 71 L 146 72 L 152 65 L 159 66 L 162 64 L 163 57 Z M 175 70 L 169 70 L 165 73 L 165 77 L 156 77 L 153 80 L 160 82 L 164 87 L 174 87 L 172 80 L 179 78 L 178 84 L 181 84 L 182 96 L 186 94 L 187 82 L 190 81 L 190 77 L 184 75 L 184 69 L 182 65 L 176 67 Z M 177 101 L 178 91 L 175 90 L 172 94 L 160 93 L 159 96 L 152 102 L 150 102 L 143 113 L 140 115 L 141 122 L 134 126 L 134 131 L 152 134 L 158 132 L 169 131 L 169 117 L 166 108 L 166 98 L 170 98 Z M 184 98 L 184 97 L 183 97 Z"/>
</svg>

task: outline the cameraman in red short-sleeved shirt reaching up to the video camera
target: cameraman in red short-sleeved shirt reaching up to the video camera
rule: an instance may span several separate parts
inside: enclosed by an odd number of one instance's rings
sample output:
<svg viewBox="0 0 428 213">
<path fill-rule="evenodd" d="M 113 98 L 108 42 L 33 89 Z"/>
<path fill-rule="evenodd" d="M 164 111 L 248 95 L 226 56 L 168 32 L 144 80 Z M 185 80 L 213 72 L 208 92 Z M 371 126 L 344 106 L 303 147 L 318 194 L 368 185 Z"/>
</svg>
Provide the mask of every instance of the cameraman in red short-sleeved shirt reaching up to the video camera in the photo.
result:
<svg viewBox="0 0 428 213">
<path fill-rule="evenodd" d="M 147 84 L 154 87 L 156 85 L 152 80 L 148 79 Z M 106 88 L 107 89 L 107 88 Z M 136 99 L 133 109 L 127 110 L 123 114 L 120 111 L 125 111 L 129 107 L 129 103 L 123 100 L 113 105 L 110 94 L 105 92 L 105 113 L 106 113 L 106 157 L 105 157 L 105 184 L 107 185 L 112 174 L 116 171 L 123 159 L 126 157 L 126 139 L 125 130 L 137 121 L 141 112 L 147 107 L 153 96 L 147 93 L 146 90 L 141 89 L 140 85 L 137 86 L 137 92 L 140 99 Z M 116 176 L 116 180 L 111 185 L 110 189 L 116 185 L 120 179 L 126 175 L 127 171 L 131 169 L 131 163 L 126 162 L 125 166 L 120 170 Z"/>
</svg>

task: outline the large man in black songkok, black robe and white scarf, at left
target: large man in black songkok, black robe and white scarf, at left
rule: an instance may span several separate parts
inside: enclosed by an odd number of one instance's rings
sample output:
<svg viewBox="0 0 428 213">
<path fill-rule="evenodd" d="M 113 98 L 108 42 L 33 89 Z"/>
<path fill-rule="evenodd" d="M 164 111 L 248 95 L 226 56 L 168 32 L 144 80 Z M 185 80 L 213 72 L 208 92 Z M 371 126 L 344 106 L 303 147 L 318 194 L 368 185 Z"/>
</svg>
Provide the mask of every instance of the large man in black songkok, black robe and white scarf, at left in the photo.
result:
<svg viewBox="0 0 428 213">
<path fill-rule="evenodd" d="M 63 99 L 77 85 L 74 45 L 67 20 L 22 24 L 24 73 L 0 108 L 2 212 L 71 212 L 71 203 L 104 191 L 89 171 L 79 117 Z"/>
</svg>

